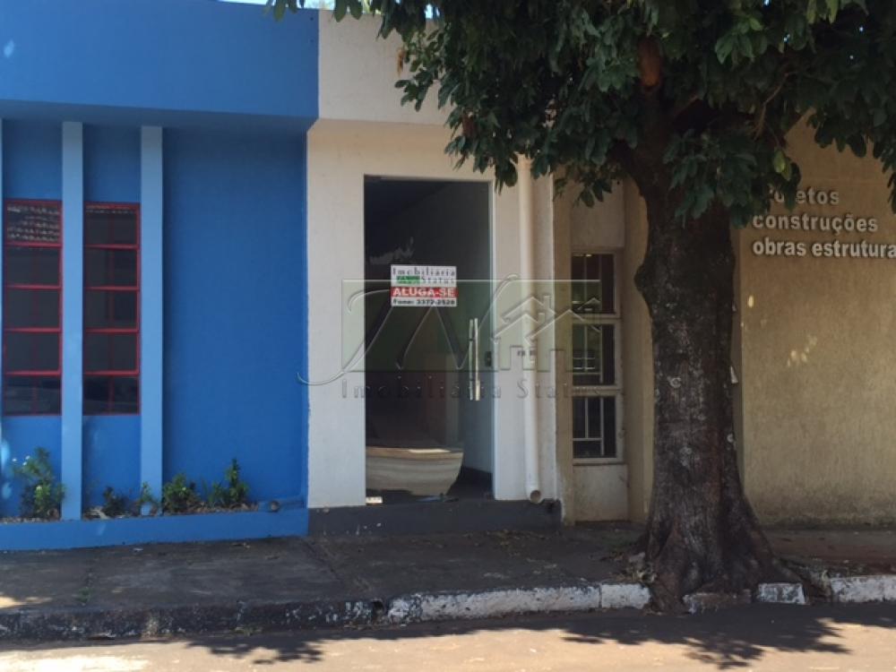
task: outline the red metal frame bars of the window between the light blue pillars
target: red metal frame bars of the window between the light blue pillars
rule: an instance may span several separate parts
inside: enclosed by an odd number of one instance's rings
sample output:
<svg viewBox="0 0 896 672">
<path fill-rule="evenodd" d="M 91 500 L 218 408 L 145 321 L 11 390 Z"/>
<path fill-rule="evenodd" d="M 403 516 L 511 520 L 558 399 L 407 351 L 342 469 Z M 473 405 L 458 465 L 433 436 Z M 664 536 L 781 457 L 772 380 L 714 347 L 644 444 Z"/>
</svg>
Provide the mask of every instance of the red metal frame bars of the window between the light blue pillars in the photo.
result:
<svg viewBox="0 0 896 672">
<path fill-rule="evenodd" d="M 84 243 L 84 301 L 85 301 L 85 320 L 84 320 L 84 351 L 82 353 L 82 361 L 84 362 L 84 371 L 83 378 L 86 383 L 87 378 L 136 378 L 137 379 L 137 401 L 136 401 L 136 409 L 128 410 L 128 411 L 118 411 L 114 410 L 115 407 L 115 398 L 114 398 L 114 387 L 111 384 L 108 385 L 108 399 L 106 401 L 106 409 L 105 410 L 91 410 L 90 412 L 85 411 L 85 415 L 139 415 L 140 414 L 140 402 L 141 402 L 141 390 L 140 390 L 140 332 L 141 332 L 141 314 L 140 314 L 140 296 L 141 296 L 141 254 L 140 254 L 140 204 L 139 203 L 116 203 L 116 202 L 87 202 L 84 203 L 84 223 L 85 229 L 87 226 L 87 219 L 89 216 L 89 211 L 91 208 L 103 208 L 107 210 L 120 210 L 120 211 L 128 211 L 133 212 L 134 214 L 134 243 Z M 113 224 L 110 222 L 109 227 L 111 228 Z M 111 236 L 110 236 L 111 239 Z M 86 240 L 86 237 L 85 237 Z M 105 251 L 133 251 L 136 256 L 136 268 L 135 277 L 134 277 L 134 285 L 90 285 L 87 281 L 88 272 L 87 272 L 87 257 L 88 252 L 90 250 L 105 250 Z M 109 256 L 108 263 L 111 264 L 112 257 Z M 135 318 L 134 318 L 134 326 L 133 327 L 89 327 L 87 325 L 86 320 L 86 301 L 88 297 L 89 291 L 104 291 L 107 294 L 107 300 L 110 301 L 114 292 L 129 292 L 134 294 L 134 305 L 135 305 Z M 109 306 L 109 311 L 111 314 L 111 306 Z M 87 369 L 87 336 L 88 334 L 101 334 L 101 335 L 116 335 L 116 334 L 133 334 L 134 335 L 134 369 L 116 369 L 112 366 L 112 350 L 109 349 L 108 359 L 109 366 L 107 368 L 96 369 L 96 370 L 88 370 Z M 86 384 L 84 385 L 86 390 Z M 86 393 L 86 392 L 85 392 Z M 85 405 L 87 400 L 84 400 Z"/>
</svg>

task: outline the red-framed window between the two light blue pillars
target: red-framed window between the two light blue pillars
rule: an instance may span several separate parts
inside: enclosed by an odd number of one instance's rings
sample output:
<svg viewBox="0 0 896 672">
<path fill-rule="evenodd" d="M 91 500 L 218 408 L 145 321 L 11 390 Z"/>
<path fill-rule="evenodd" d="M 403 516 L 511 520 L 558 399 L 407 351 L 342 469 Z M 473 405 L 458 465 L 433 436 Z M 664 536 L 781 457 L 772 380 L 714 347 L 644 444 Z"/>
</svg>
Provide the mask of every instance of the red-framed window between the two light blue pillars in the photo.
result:
<svg viewBox="0 0 896 672">
<path fill-rule="evenodd" d="M 84 415 L 140 412 L 140 206 L 84 208 Z"/>
</svg>

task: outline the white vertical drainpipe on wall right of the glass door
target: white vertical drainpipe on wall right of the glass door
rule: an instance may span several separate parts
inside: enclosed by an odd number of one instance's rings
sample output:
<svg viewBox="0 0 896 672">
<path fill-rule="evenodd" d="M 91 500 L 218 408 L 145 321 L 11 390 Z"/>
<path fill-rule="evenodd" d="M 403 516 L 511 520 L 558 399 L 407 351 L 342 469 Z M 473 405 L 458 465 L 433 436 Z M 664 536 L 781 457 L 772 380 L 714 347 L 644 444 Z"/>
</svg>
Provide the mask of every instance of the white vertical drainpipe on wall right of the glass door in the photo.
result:
<svg viewBox="0 0 896 672">
<path fill-rule="evenodd" d="M 520 277 L 522 297 L 534 297 L 535 283 L 535 212 L 532 203 L 532 162 L 520 157 L 517 164 L 517 189 L 520 199 Z M 535 393 L 538 350 L 535 341 L 523 343 L 521 375 L 527 394 L 523 399 L 523 436 L 526 464 L 526 495 L 530 502 L 541 502 L 541 478 L 538 465 L 538 398 Z"/>
</svg>

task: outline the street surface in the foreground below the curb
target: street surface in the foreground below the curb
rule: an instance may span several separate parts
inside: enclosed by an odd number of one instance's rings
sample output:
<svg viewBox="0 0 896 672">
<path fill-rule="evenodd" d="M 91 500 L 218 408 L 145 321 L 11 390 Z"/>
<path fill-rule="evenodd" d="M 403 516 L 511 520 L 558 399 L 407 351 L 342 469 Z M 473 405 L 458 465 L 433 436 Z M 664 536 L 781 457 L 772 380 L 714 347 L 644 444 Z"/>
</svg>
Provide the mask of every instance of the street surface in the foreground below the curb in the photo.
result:
<svg viewBox="0 0 896 672">
<path fill-rule="evenodd" d="M 896 605 L 585 614 L 0 647 L 4 672 L 896 670 Z"/>
</svg>

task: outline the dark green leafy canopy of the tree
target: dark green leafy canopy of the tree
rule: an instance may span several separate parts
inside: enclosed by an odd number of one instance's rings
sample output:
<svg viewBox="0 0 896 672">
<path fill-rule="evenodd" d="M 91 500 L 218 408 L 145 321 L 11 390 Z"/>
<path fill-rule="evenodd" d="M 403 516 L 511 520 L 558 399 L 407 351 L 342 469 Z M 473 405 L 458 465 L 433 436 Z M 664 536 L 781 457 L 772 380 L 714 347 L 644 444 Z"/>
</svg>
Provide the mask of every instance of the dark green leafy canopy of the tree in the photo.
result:
<svg viewBox="0 0 896 672">
<path fill-rule="evenodd" d="M 301 0 L 271 0 L 281 13 Z M 667 171 L 681 218 L 713 204 L 741 224 L 795 192 L 786 136 L 896 167 L 891 0 L 369 0 L 404 41 L 398 86 L 437 95 L 448 149 L 502 184 L 517 157 L 563 171 L 591 202 L 636 162 Z M 334 15 L 359 16 L 361 0 Z M 433 19 L 427 21 L 428 18 Z M 393 67 L 383 64 L 384 67 Z M 646 157 L 659 156 L 651 163 Z"/>
</svg>

